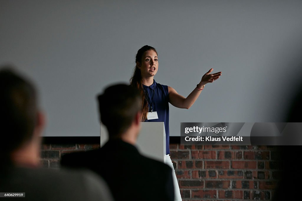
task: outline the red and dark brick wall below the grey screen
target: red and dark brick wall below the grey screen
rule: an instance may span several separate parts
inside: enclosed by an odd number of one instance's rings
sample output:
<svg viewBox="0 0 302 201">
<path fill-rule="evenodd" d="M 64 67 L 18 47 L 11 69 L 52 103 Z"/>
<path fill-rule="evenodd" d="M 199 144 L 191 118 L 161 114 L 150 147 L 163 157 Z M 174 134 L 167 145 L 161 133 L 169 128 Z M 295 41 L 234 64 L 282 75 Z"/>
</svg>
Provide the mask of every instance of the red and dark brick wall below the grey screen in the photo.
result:
<svg viewBox="0 0 302 201">
<path fill-rule="evenodd" d="M 97 144 L 44 144 L 44 167 L 59 168 L 61 155 Z M 271 200 L 281 177 L 276 146 L 170 145 L 183 200 Z"/>
</svg>

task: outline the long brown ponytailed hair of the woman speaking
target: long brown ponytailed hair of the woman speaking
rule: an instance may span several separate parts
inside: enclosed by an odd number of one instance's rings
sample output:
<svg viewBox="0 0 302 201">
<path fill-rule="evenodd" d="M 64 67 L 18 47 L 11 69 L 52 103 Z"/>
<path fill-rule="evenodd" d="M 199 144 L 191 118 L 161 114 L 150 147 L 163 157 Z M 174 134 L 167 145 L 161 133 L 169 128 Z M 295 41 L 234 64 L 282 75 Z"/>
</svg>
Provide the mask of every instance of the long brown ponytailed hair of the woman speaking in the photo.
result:
<svg viewBox="0 0 302 201">
<path fill-rule="evenodd" d="M 141 49 L 137 51 L 136 57 L 135 57 L 135 63 L 139 62 L 142 63 L 142 57 L 144 52 L 148 50 L 153 50 L 156 52 L 156 49 L 151 46 L 143 46 Z M 156 52 L 157 54 L 157 52 Z M 145 121 L 147 118 L 147 114 L 149 112 L 149 106 L 148 106 L 148 101 L 146 100 L 145 93 L 144 93 L 144 88 L 143 88 L 143 80 L 142 80 L 142 75 L 140 73 L 140 69 L 135 65 L 133 69 L 133 75 L 130 79 L 130 85 L 136 87 L 140 91 L 140 95 L 142 97 L 142 121 Z"/>
</svg>

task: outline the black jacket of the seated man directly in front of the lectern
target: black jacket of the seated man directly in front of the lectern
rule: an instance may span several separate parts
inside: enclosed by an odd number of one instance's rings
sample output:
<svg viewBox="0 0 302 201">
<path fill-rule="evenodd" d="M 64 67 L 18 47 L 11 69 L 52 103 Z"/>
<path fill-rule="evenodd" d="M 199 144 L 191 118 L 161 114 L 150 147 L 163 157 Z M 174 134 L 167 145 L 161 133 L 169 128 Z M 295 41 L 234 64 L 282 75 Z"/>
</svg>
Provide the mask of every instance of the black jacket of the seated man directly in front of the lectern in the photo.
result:
<svg viewBox="0 0 302 201">
<path fill-rule="evenodd" d="M 174 200 L 172 169 L 140 155 L 135 146 L 122 140 L 109 140 L 97 150 L 63 155 L 61 165 L 97 172 L 116 201 Z"/>
</svg>

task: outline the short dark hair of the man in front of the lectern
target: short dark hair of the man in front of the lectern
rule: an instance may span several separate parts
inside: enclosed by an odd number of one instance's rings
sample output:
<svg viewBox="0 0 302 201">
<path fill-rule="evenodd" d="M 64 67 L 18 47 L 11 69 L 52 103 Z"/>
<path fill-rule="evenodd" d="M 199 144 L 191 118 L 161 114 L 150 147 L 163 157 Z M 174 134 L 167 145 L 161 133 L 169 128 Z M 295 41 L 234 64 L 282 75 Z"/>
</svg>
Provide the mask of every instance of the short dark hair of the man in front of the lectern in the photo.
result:
<svg viewBox="0 0 302 201">
<path fill-rule="evenodd" d="M 109 138 L 120 137 L 142 108 L 139 91 L 126 84 L 107 87 L 97 99 L 101 122 L 107 127 Z"/>
</svg>

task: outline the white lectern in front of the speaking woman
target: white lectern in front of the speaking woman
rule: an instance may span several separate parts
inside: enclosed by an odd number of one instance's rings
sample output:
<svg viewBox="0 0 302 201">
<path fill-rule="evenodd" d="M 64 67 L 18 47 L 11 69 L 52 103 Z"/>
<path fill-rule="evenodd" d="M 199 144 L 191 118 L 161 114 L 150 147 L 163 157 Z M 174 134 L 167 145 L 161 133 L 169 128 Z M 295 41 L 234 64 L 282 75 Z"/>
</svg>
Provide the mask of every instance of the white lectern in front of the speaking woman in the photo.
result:
<svg viewBox="0 0 302 201">
<path fill-rule="evenodd" d="M 137 139 L 137 148 L 142 155 L 165 162 L 166 134 L 164 122 L 142 122 Z M 101 124 L 101 146 L 108 140 L 107 130 Z"/>
</svg>

